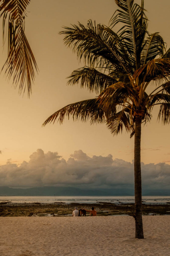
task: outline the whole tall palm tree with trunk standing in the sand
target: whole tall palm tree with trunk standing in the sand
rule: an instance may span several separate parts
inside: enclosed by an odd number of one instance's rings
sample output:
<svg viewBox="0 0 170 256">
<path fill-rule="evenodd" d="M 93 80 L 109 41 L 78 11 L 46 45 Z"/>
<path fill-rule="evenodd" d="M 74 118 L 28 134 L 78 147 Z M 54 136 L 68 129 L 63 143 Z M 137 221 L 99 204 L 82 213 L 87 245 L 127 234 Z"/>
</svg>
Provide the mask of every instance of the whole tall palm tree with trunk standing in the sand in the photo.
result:
<svg viewBox="0 0 170 256">
<path fill-rule="evenodd" d="M 80 83 L 98 97 L 69 104 L 51 115 L 43 126 L 64 117 L 73 120 L 105 122 L 113 135 L 125 127 L 135 134 L 135 237 L 144 238 L 142 226 L 140 140 L 141 124 L 151 119 L 154 105 L 160 104 L 159 118 L 166 122 L 170 109 L 170 61 L 162 37 L 147 31 L 148 20 L 143 7 L 133 0 L 115 0 L 119 10 L 110 26 L 96 25 L 90 20 L 64 27 L 64 42 L 77 52 L 85 66 L 74 70 L 68 84 Z M 117 33 L 118 23 L 123 24 Z M 154 90 L 150 85 L 156 81 Z M 152 92 L 151 92 L 152 89 Z"/>
</svg>

